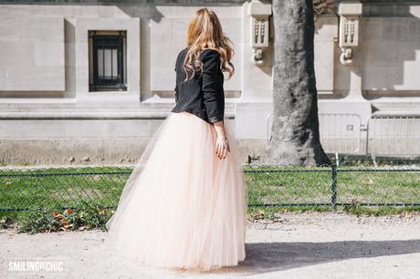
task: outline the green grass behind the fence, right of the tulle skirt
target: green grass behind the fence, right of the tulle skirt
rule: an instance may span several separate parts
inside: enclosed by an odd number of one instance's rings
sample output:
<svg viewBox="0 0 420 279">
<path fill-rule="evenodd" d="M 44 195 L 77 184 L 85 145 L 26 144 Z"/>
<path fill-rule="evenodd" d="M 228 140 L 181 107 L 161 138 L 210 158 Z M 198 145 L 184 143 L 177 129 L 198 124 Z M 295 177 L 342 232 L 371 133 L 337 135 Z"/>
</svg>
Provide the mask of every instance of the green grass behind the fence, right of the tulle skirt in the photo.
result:
<svg viewBox="0 0 420 279">
<path fill-rule="evenodd" d="M 420 171 L 381 170 L 340 167 L 336 176 L 337 202 L 420 204 Z M 251 205 L 331 203 L 328 167 L 247 167 L 245 171 Z"/>
</svg>

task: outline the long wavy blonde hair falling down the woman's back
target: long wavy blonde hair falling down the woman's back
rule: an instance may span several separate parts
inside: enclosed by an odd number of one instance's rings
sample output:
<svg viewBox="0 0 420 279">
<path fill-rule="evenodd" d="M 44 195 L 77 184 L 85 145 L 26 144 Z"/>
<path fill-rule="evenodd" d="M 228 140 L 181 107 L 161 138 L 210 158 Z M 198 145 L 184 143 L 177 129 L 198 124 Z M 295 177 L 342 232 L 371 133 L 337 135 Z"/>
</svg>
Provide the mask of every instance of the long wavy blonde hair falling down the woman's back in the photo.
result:
<svg viewBox="0 0 420 279">
<path fill-rule="evenodd" d="M 223 33 L 219 19 L 212 9 L 201 8 L 195 12 L 188 26 L 186 44 L 188 51 L 183 65 L 185 80 L 193 78 L 197 70 L 203 71 L 200 56 L 205 48 L 214 49 L 220 54 L 220 69 L 228 73 L 228 79 L 232 78 L 235 67 L 230 60 L 235 54 L 234 44 Z"/>
</svg>

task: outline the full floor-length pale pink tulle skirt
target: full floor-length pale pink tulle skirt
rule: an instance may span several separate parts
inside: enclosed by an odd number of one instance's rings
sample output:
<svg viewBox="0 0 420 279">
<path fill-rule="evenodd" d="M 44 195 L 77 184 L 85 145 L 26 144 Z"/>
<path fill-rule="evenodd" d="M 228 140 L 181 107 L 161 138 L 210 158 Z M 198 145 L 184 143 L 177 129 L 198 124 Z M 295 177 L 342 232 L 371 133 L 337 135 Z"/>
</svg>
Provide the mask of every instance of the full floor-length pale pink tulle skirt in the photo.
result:
<svg viewBox="0 0 420 279">
<path fill-rule="evenodd" d="M 245 259 L 247 191 L 231 128 L 215 156 L 215 127 L 171 112 L 156 130 L 107 222 L 118 253 L 137 265 L 208 271 Z"/>
</svg>

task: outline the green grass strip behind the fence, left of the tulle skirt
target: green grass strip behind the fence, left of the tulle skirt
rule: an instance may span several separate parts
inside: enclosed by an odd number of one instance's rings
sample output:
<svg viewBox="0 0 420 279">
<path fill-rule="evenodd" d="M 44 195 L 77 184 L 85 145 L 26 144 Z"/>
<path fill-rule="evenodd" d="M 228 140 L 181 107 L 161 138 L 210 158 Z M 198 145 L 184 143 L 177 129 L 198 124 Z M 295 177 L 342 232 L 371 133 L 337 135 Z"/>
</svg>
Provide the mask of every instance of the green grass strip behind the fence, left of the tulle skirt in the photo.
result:
<svg viewBox="0 0 420 279">
<path fill-rule="evenodd" d="M 0 208 L 61 208 L 80 201 L 115 206 L 130 173 L 129 168 L 112 167 L 2 171 Z"/>
</svg>

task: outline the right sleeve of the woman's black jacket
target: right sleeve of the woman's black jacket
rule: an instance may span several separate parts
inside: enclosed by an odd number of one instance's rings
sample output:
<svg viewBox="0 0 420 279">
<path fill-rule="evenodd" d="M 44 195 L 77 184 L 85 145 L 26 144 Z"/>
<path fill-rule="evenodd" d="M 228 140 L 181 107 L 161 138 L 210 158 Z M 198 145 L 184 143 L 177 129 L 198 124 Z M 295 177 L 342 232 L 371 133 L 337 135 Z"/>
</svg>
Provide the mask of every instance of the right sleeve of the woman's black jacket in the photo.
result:
<svg viewBox="0 0 420 279">
<path fill-rule="evenodd" d="M 210 122 L 224 119 L 225 93 L 223 90 L 223 73 L 220 69 L 220 54 L 210 49 L 205 51 L 203 62 L 203 98 L 205 110 Z"/>
</svg>

